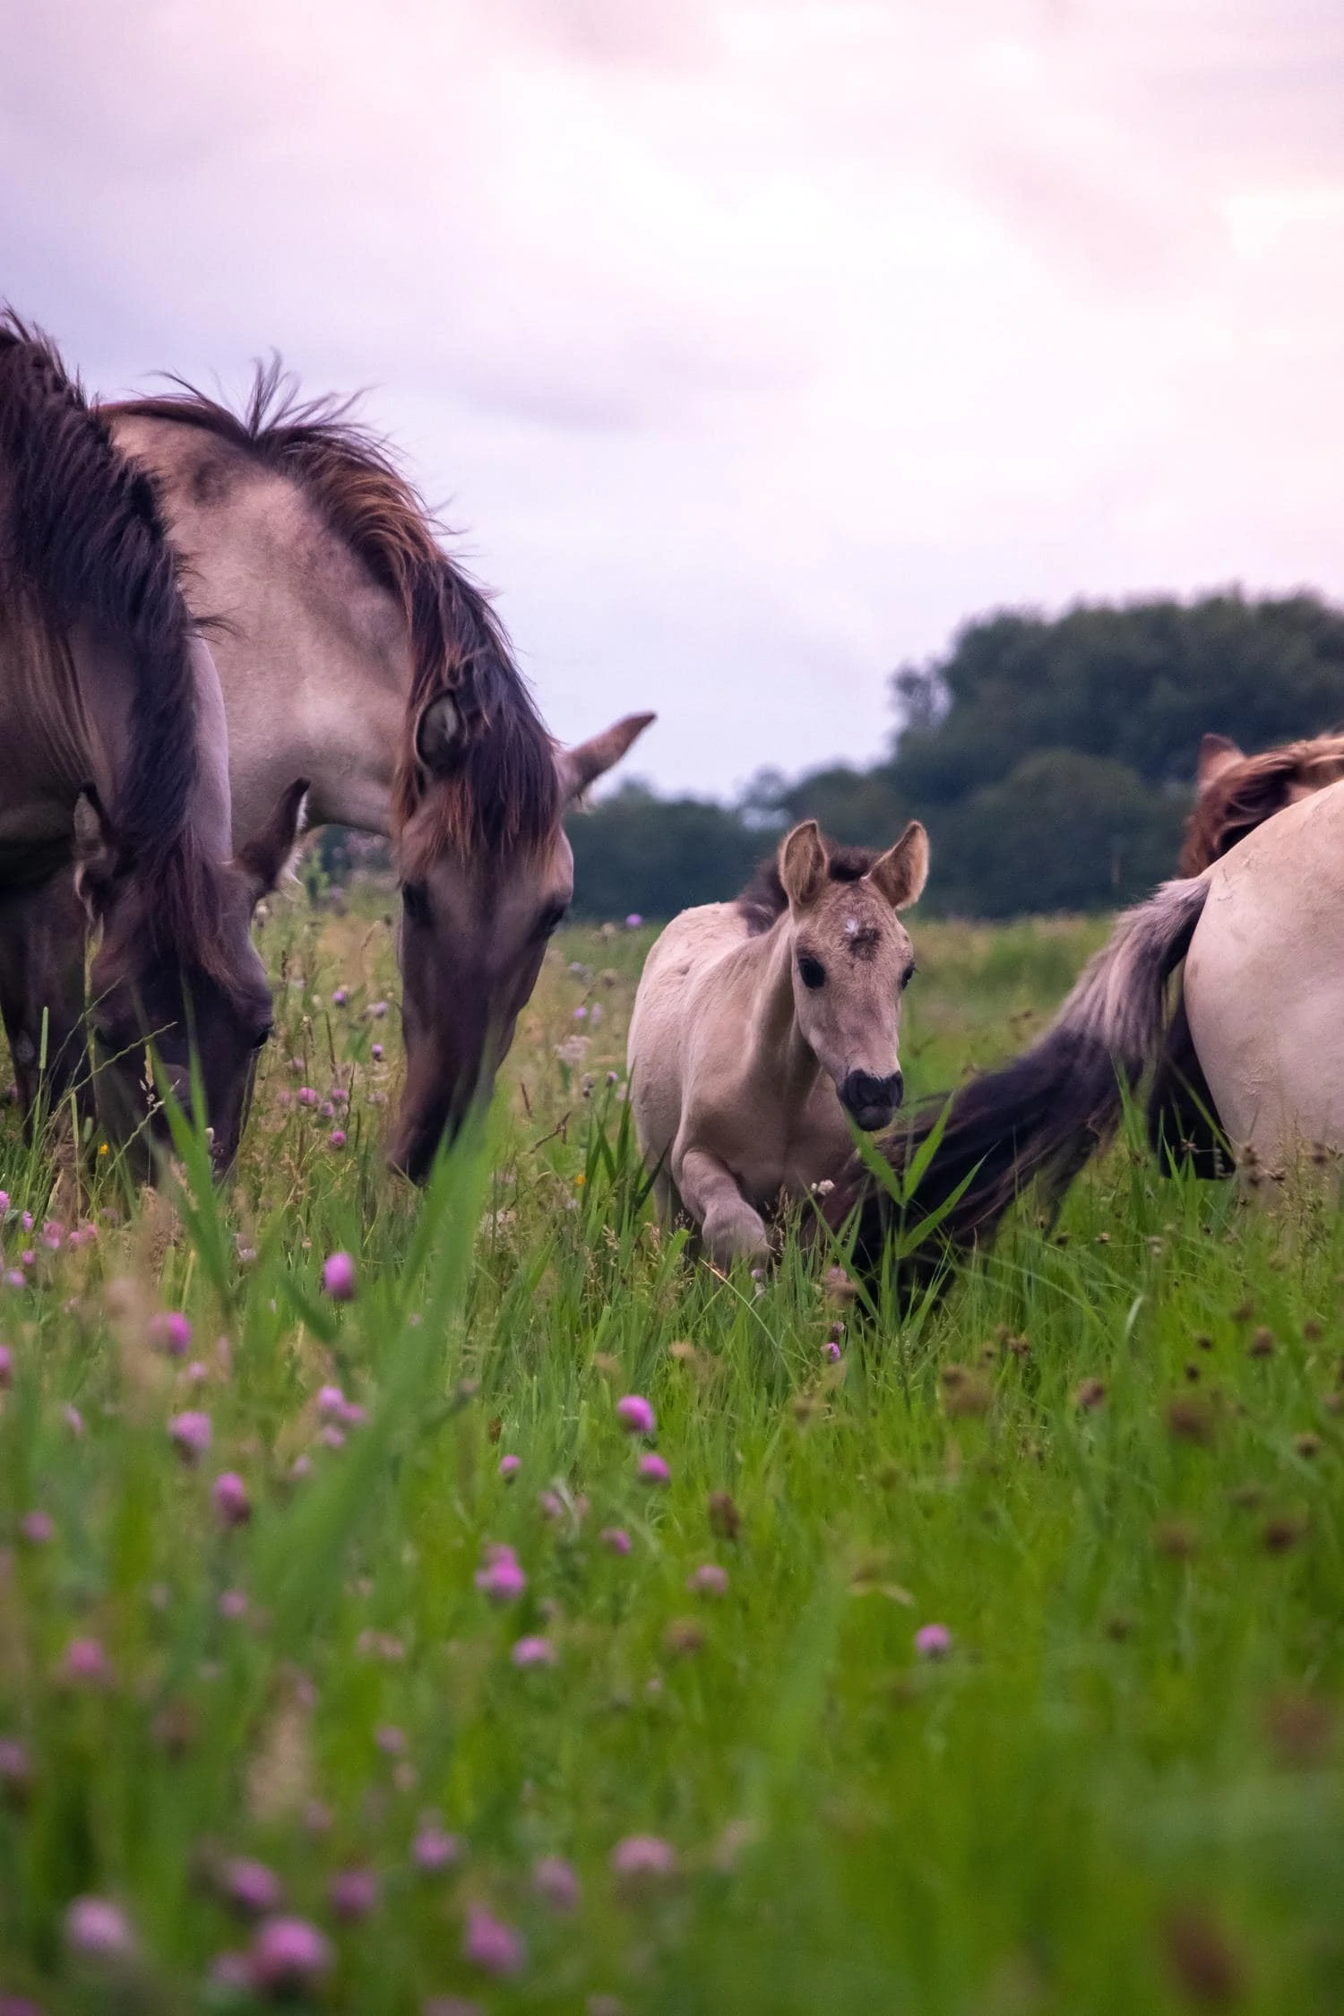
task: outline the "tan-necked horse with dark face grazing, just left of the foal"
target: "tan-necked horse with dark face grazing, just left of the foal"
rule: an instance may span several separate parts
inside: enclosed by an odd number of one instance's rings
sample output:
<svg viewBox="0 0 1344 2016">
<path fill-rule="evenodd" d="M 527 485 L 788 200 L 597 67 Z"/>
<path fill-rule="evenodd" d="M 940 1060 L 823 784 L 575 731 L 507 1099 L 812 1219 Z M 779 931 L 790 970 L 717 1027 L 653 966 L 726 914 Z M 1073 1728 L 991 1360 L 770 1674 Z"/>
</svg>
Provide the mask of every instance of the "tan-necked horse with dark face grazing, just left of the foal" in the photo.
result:
<svg viewBox="0 0 1344 2016">
<path fill-rule="evenodd" d="M 103 417 L 153 482 L 212 625 L 234 839 L 294 774 L 310 825 L 393 839 L 407 1087 L 391 1159 L 419 1179 L 490 1095 L 570 901 L 566 808 L 653 716 L 558 748 L 385 446 L 337 401 L 296 403 L 278 367 L 242 415 L 183 389 Z"/>
</svg>

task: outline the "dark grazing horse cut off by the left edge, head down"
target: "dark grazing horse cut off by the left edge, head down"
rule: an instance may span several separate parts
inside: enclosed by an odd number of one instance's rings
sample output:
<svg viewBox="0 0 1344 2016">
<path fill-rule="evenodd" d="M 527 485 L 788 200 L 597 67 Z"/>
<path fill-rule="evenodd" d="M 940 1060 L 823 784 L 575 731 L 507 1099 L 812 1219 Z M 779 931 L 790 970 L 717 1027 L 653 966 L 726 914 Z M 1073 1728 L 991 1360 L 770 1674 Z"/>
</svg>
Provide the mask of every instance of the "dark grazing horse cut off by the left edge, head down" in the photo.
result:
<svg viewBox="0 0 1344 2016">
<path fill-rule="evenodd" d="M 177 591 L 153 492 L 117 456 L 52 345 L 0 317 L 0 919 L 64 885 L 66 913 L 101 927 L 93 962 L 97 1095 L 119 1143 L 163 1137 L 145 1044 L 189 1105 L 201 1070 L 214 1155 L 228 1163 L 270 1032 L 252 907 L 292 843 L 284 816 L 230 859 L 224 704 Z M 71 873 L 73 871 L 73 873 Z M 69 937 L 69 933 L 66 933 Z M 2 946 L 2 941 L 0 941 Z M 26 962 L 0 960 L 0 1008 L 24 1089 L 36 1083 L 40 1002 Z M 79 1020 L 83 931 L 62 984 Z M 36 1028 L 32 1008 L 38 1008 Z M 75 1046 L 62 1054 L 75 1068 Z"/>
</svg>

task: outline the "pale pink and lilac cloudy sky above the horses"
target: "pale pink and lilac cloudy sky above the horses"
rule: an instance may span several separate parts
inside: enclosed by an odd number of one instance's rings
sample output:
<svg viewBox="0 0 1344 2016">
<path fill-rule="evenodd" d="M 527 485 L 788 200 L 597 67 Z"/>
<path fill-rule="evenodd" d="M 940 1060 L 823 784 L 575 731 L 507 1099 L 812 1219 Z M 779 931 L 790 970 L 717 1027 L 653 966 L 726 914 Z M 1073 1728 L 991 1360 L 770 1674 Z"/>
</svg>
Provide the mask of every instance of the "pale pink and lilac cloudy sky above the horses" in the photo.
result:
<svg viewBox="0 0 1344 2016">
<path fill-rule="evenodd" d="M 870 762 L 993 607 L 1344 599 L 1340 0 L 0 0 L 0 294 L 278 349 L 566 740 Z"/>
</svg>

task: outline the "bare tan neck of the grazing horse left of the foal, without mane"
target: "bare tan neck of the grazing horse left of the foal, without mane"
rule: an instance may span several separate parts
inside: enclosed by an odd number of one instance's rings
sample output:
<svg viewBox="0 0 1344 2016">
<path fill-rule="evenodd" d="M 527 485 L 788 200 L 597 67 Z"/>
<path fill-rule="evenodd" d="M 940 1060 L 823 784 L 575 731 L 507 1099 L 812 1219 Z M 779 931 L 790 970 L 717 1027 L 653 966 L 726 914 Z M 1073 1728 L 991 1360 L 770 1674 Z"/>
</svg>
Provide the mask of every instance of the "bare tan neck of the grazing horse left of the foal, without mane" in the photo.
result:
<svg viewBox="0 0 1344 2016">
<path fill-rule="evenodd" d="M 389 833 L 411 689 L 397 597 L 288 478 L 199 427 L 137 415 L 113 427 L 157 480 L 183 593 L 208 621 L 234 845 L 262 831 L 296 776 L 310 778 L 312 825 Z M 204 460 L 222 480 L 199 480 Z"/>
</svg>

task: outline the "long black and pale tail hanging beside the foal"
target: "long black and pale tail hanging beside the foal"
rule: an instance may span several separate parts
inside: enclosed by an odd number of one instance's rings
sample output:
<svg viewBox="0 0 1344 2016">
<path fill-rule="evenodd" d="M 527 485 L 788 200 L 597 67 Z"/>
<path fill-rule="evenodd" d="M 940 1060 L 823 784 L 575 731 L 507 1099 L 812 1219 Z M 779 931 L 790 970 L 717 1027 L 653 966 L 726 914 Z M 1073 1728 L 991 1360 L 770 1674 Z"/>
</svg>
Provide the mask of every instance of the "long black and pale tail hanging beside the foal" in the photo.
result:
<svg viewBox="0 0 1344 2016">
<path fill-rule="evenodd" d="M 1040 1042 L 1001 1070 L 971 1079 L 951 1103 L 931 1101 L 885 1139 L 883 1153 L 901 1173 L 943 1121 L 905 1206 L 903 1236 L 907 1250 L 911 1238 L 917 1242 L 909 1266 L 917 1278 L 931 1274 L 949 1246 L 987 1244 L 1034 1179 L 1058 1198 L 1112 1137 L 1124 1095 L 1161 1050 L 1167 980 L 1185 958 L 1207 893 L 1203 875 L 1171 881 L 1124 911 Z M 901 1208 L 858 1159 L 826 1200 L 834 1228 L 854 1212 L 854 1258 L 875 1270 Z M 919 1248 L 927 1218 L 937 1222 Z"/>
</svg>

